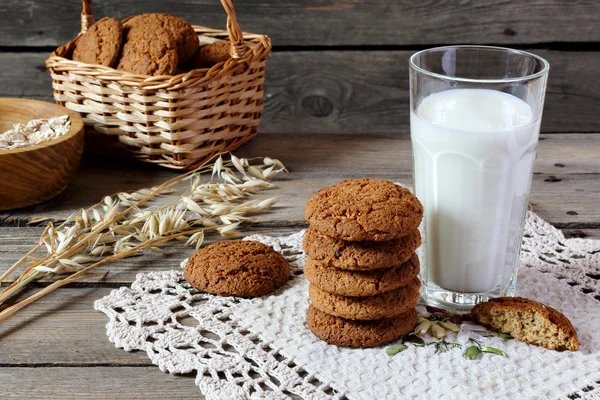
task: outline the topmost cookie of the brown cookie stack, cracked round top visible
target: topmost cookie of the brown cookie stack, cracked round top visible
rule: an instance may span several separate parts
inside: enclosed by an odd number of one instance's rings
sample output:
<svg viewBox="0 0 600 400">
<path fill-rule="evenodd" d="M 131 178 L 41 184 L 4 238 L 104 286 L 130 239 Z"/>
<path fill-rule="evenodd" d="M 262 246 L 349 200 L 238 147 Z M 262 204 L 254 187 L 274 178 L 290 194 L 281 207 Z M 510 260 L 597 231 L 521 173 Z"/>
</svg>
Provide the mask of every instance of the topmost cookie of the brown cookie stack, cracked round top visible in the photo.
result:
<svg viewBox="0 0 600 400">
<path fill-rule="evenodd" d="M 421 202 L 408 189 L 382 179 L 350 179 L 319 190 L 304 216 L 321 234 L 348 241 L 406 236 L 423 219 Z"/>
</svg>

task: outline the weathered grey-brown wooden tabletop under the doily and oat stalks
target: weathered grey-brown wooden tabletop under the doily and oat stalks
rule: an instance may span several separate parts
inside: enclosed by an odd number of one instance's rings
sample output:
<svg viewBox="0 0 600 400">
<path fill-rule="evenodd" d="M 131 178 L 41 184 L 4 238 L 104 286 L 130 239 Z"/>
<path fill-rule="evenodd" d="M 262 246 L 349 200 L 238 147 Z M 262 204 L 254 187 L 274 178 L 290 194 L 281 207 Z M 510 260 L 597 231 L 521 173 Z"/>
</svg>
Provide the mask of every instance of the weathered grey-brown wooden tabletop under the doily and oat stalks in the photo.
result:
<svg viewBox="0 0 600 400">
<path fill-rule="evenodd" d="M 600 134 L 543 134 L 535 167 L 531 205 L 568 236 L 600 238 Z M 275 180 L 266 196 L 281 202 L 246 226 L 244 234 L 280 235 L 306 226 L 302 212 L 319 188 L 341 179 L 379 177 L 411 182 L 408 135 L 262 134 L 237 155 L 280 159 L 290 173 Z M 58 198 L 0 214 L 0 271 L 34 245 L 42 228 L 36 216 L 61 219 L 103 195 L 149 187 L 175 173 L 135 163 L 85 157 L 78 177 Z M 119 261 L 90 279 L 59 289 L 0 325 L 3 398 L 197 398 L 190 376 L 171 376 L 146 354 L 116 349 L 105 335 L 108 319 L 93 302 L 132 282 L 138 272 L 176 268 L 192 250 L 176 244 L 164 256 Z M 40 287 L 44 283 L 37 283 Z M 27 293 L 24 293 L 26 295 Z M 598 299 L 600 301 L 600 298 Z"/>
</svg>

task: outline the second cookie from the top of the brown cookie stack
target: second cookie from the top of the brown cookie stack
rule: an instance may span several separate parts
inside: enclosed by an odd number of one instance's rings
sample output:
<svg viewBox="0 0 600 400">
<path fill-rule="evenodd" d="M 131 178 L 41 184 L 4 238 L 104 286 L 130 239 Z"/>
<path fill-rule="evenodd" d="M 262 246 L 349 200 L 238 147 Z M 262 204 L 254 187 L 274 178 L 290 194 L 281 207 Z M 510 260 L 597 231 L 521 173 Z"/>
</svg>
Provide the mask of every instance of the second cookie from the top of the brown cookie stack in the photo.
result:
<svg viewBox="0 0 600 400">
<path fill-rule="evenodd" d="M 400 265 L 421 245 L 415 229 L 385 242 L 346 242 L 320 234 L 312 226 L 304 234 L 304 251 L 311 258 L 335 268 L 370 270 Z"/>
</svg>

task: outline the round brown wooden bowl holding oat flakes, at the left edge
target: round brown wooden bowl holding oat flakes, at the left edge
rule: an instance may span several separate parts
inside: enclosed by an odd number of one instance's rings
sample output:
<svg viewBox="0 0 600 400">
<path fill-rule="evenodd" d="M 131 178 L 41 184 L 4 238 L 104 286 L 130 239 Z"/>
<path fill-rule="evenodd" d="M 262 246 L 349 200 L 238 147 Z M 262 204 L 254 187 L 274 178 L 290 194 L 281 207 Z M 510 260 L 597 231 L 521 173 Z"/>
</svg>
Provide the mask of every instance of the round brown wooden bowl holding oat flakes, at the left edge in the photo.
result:
<svg viewBox="0 0 600 400">
<path fill-rule="evenodd" d="M 83 152 L 83 121 L 78 113 L 43 101 L 0 99 L 0 133 L 16 123 L 65 114 L 71 129 L 60 138 L 0 150 L 0 210 L 31 206 L 61 193 L 77 172 Z"/>
</svg>

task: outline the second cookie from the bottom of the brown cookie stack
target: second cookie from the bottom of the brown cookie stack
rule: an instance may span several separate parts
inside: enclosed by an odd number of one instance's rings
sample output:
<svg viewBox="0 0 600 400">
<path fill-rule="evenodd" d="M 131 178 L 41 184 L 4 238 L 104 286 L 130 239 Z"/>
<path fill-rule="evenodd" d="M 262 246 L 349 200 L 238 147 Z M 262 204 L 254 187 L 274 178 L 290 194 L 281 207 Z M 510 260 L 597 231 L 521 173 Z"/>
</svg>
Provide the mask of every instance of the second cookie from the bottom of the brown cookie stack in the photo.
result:
<svg viewBox="0 0 600 400">
<path fill-rule="evenodd" d="M 308 297 L 312 305 L 324 313 L 345 319 L 373 320 L 392 318 L 415 308 L 419 301 L 419 289 L 419 278 L 398 289 L 368 297 L 340 296 L 310 285 Z"/>
</svg>

